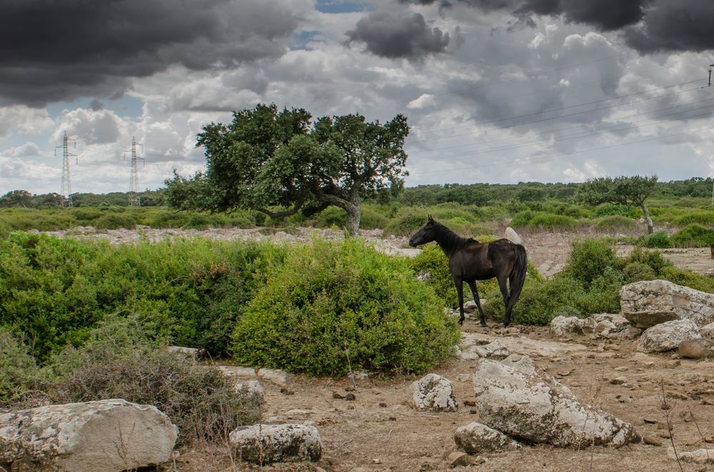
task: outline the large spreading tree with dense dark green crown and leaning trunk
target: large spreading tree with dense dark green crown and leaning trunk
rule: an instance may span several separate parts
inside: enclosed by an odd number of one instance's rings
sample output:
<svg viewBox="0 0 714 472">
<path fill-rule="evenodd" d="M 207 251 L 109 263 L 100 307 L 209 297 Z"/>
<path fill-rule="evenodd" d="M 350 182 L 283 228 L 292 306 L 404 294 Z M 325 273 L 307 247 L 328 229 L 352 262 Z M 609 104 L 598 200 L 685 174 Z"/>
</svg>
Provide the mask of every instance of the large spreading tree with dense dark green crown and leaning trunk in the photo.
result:
<svg viewBox="0 0 714 472">
<path fill-rule="evenodd" d="M 383 125 L 360 115 L 313 124 L 301 108 L 260 104 L 233 113 L 227 126 L 203 127 L 196 145 L 206 150 L 206 173 L 167 180 L 167 200 L 183 209 L 247 208 L 276 219 L 334 205 L 347 213 L 346 232 L 357 235 L 362 199 L 402 190 L 408 133 L 401 115 Z"/>
</svg>

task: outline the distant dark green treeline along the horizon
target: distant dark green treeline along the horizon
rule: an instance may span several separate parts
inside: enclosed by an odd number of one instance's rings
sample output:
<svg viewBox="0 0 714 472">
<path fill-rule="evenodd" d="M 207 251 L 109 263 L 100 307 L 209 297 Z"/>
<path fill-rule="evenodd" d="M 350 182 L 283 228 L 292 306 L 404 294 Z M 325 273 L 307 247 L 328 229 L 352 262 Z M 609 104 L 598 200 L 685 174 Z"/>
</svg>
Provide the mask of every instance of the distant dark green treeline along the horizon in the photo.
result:
<svg viewBox="0 0 714 472">
<path fill-rule="evenodd" d="M 538 202 L 542 200 L 560 200 L 574 202 L 582 183 L 540 183 L 519 182 L 517 184 L 458 184 L 418 185 L 408 187 L 397 197 L 381 195 L 379 200 L 396 200 L 403 205 L 438 205 L 456 202 L 461 205 L 491 205 L 494 202 L 516 200 L 520 202 Z M 693 177 L 687 180 L 658 182 L 653 197 L 710 197 L 712 178 Z M 146 190 L 139 194 L 142 207 L 166 205 L 165 190 Z M 129 193 L 112 192 L 104 194 L 73 193 L 74 207 L 101 207 L 129 205 Z M 368 199 L 369 201 L 369 199 Z M 46 193 L 33 195 L 26 190 L 12 190 L 0 197 L 0 207 L 56 207 L 60 205 L 60 195 Z"/>
</svg>

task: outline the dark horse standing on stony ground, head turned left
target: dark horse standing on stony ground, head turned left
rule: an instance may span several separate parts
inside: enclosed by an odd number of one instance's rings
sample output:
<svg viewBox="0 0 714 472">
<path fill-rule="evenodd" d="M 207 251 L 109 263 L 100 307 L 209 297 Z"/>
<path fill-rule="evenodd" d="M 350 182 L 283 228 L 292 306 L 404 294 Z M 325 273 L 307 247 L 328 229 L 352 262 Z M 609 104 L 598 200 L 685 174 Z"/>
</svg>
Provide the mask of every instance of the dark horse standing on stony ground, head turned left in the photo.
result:
<svg viewBox="0 0 714 472">
<path fill-rule="evenodd" d="M 463 324 L 463 282 L 466 282 L 471 287 L 473 301 L 481 314 L 481 326 L 486 326 L 486 315 L 483 314 L 481 301 L 478 299 L 476 280 L 493 277 L 498 279 L 503 304 L 506 305 L 503 327 L 511 324 L 511 310 L 518 302 L 523 282 L 526 280 L 526 248 L 509 240 L 478 242 L 471 238 L 466 239 L 430 216 L 426 225 L 409 238 L 409 245 L 416 247 L 432 241 L 436 241 L 448 257 L 448 268 L 458 292 L 458 324 Z M 510 293 L 506 287 L 506 279 L 511 287 Z"/>
</svg>

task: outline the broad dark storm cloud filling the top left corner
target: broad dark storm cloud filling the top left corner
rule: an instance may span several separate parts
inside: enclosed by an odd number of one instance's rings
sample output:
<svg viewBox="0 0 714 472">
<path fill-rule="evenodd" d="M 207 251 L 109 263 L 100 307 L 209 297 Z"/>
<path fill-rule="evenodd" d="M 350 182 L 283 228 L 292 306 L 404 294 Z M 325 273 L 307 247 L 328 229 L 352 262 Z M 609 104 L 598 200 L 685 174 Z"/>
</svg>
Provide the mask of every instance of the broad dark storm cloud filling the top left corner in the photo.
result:
<svg viewBox="0 0 714 472">
<path fill-rule="evenodd" d="M 231 67 L 284 51 L 299 15 L 245 0 L 4 0 L 0 104 L 110 96 L 172 64 Z"/>
</svg>

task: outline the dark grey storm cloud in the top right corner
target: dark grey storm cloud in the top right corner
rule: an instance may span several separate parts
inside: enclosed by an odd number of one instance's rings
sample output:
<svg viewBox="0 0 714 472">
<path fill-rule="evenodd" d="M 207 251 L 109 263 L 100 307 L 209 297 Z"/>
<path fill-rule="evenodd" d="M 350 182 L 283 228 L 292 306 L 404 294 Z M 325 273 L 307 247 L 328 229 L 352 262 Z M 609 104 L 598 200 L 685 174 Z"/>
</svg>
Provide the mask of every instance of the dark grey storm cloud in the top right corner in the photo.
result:
<svg viewBox="0 0 714 472">
<path fill-rule="evenodd" d="M 658 0 L 642 24 L 625 30 L 630 47 L 641 52 L 714 49 L 714 3 Z"/>
</svg>

